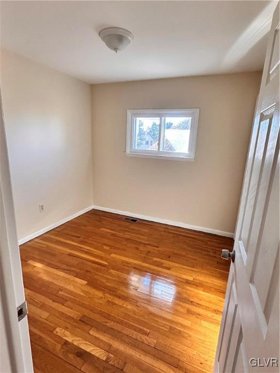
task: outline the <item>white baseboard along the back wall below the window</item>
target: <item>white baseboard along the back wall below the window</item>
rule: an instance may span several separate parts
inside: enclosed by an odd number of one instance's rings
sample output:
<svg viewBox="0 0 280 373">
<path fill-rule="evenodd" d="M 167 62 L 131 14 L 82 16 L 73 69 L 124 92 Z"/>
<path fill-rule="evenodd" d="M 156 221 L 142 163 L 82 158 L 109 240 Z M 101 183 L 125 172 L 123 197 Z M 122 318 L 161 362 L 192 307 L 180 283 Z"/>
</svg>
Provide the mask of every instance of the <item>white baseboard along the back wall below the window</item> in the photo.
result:
<svg viewBox="0 0 280 373">
<path fill-rule="evenodd" d="M 131 218 L 138 218 L 138 219 L 142 219 L 142 220 L 150 220 L 150 221 L 155 221 L 157 223 L 174 225 L 175 227 L 193 229 L 194 231 L 201 231 L 201 232 L 206 232 L 206 233 L 212 233 L 214 235 L 225 236 L 225 237 L 233 237 L 233 233 L 231 233 L 231 232 L 218 231 L 216 229 L 199 227 L 197 225 L 190 225 L 190 224 L 186 224 L 186 223 L 181 223 L 180 221 L 160 219 L 160 218 L 155 218 L 153 216 L 140 215 L 140 214 L 135 214 L 133 212 L 115 210 L 113 208 L 102 207 L 102 206 L 95 206 L 95 205 L 93 205 L 92 208 L 95 209 L 95 210 L 112 212 L 113 214 L 130 216 Z"/>
</svg>

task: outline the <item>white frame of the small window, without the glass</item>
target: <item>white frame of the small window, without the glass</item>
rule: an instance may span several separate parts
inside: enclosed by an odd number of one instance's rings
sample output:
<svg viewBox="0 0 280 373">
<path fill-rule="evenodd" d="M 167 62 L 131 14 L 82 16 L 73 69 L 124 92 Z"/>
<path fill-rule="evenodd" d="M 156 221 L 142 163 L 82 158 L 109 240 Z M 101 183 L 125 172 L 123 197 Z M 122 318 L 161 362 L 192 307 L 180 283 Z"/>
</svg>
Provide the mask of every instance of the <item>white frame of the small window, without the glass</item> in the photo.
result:
<svg viewBox="0 0 280 373">
<path fill-rule="evenodd" d="M 134 149 L 135 141 L 135 118 L 159 118 L 159 136 L 158 148 L 155 150 Z M 190 139 L 189 139 L 189 152 L 164 152 L 161 150 L 161 136 L 164 131 L 164 123 L 166 117 L 188 117 L 191 120 Z M 157 158 L 167 160 L 179 161 L 194 161 L 196 136 L 198 127 L 199 109 L 133 109 L 127 110 L 126 117 L 126 151 L 125 155 L 129 157 L 144 157 L 144 158 Z"/>
</svg>

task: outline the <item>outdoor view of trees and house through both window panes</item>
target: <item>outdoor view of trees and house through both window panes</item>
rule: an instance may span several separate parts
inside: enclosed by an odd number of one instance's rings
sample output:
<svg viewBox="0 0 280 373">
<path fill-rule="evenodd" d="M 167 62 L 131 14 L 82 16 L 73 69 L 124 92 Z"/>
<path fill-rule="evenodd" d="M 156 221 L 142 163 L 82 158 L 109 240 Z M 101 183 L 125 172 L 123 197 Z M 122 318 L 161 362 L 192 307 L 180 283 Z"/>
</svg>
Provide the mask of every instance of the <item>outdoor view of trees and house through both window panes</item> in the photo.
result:
<svg viewBox="0 0 280 373">
<path fill-rule="evenodd" d="M 157 151 L 160 129 L 159 118 L 136 118 L 134 149 Z M 191 118 L 162 119 L 161 151 L 188 153 Z"/>
</svg>

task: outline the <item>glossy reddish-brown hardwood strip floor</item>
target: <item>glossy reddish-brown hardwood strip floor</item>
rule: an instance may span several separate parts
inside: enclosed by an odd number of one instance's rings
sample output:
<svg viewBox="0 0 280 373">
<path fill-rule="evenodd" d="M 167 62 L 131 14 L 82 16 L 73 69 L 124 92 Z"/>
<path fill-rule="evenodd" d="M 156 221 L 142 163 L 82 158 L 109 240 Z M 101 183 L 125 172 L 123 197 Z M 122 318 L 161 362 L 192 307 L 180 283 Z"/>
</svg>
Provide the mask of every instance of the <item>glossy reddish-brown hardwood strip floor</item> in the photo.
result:
<svg viewBox="0 0 280 373">
<path fill-rule="evenodd" d="M 212 372 L 232 246 L 97 210 L 21 245 L 35 373 Z"/>
</svg>

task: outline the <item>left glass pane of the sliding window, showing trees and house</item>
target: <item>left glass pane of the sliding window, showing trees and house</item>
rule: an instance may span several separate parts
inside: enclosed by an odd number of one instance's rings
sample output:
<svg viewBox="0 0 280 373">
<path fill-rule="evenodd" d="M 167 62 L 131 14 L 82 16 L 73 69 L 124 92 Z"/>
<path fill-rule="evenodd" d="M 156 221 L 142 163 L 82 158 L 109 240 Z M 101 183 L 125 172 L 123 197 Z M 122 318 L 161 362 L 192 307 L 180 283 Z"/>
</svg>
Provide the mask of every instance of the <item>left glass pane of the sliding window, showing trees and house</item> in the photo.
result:
<svg viewBox="0 0 280 373">
<path fill-rule="evenodd" d="M 135 118 L 133 149 L 157 151 L 159 118 Z"/>
</svg>

